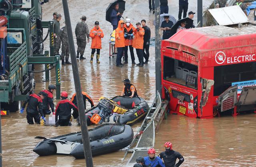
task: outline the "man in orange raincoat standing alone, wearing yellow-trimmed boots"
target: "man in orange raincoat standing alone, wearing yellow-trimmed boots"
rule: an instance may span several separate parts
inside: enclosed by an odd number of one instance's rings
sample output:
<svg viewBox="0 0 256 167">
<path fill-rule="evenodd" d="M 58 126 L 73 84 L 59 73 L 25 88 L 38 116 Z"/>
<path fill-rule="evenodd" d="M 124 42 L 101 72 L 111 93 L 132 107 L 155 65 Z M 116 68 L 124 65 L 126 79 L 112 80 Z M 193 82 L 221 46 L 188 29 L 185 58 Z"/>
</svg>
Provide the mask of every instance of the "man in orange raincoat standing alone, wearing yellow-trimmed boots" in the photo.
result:
<svg viewBox="0 0 256 167">
<path fill-rule="evenodd" d="M 100 63 L 99 59 L 100 59 L 100 49 L 101 48 L 101 38 L 104 37 L 104 34 L 103 34 L 103 31 L 102 29 L 100 29 L 100 23 L 98 21 L 96 21 L 94 23 L 94 28 L 92 28 L 91 32 L 90 32 L 90 37 L 92 38 L 92 44 L 91 44 L 91 49 L 92 49 L 92 55 L 91 55 L 91 60 L 90 62 L 92 63 L 93 61 L 93 56 L 94 56 L 94 53 L 96 52 L 97 50 L 97 53 L 96 53 L 96 62 L 97 63 Z"/>
</svg>

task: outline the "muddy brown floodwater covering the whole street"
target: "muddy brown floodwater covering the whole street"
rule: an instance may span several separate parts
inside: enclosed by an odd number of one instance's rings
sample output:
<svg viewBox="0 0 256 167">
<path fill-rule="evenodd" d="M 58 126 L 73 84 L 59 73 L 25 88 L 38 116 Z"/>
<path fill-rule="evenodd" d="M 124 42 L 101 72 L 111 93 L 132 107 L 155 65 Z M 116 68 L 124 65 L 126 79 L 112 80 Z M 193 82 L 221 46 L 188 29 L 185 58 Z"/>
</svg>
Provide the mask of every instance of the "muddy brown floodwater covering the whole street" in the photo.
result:
<svg viewBox="0 0 256 167">
<path fill-rule="evenodd" d="M 204 0 L 204 6 L 208 6 L 211 0 Z M 52 13 L 57 11 L 63 14 L 61 0 L 50 0 L 43 5 L 43 20 L 52 19 Z M 100 22 L 100 27 L 104 31 L 105 37 L 102 40 L 102 50 L 100 64 L 90 64 L 90 43 L 86 46 L 86 60 L 78 62 L 80 70 L 80 80 L 84 91 L 92 96 L 97 102 L 101 96 L 114 97 L 119 95 L 122 89 L 122 80 L 130 78 L 136 85 L 138 94 L 152 103 L 155 94 L 155 66 L 154 66 L 154 46 L 150 47 L 150 62 L 143 68 L 129 64 L 123 68 L 115 66 L 115 58 L 109 61 L 108 40 L 112 30 L 110 23 L 105 21 L 104 12 L 110 0 L 68 0 L 72 28 L 80 21 L 81 15 L 87 16 L 89 29 L 93 27 L 96 20 Z M 190 9 L 196 8 L 196 0 L 190 1 Z M 178 15 L 178 0 L 169 1 L 170 13 Z M 124 18 L 129 17 L 132 23 L 142 19 L 147 21 L 154 37 L 153 20 L 154 16 L 148 12 L 148 1 L 129 0 L 126 3 Z M 61 25 L 64 25 L 62 17 Z M 74 38 L 76 42 L 76 39 Z M 49 40 L 45 42 L 45 49 L 48 50 Z M 153 43 L 153 42 L 152 42 Z M 136 62 L 138 59 L 136 58 Z M 37 66 L 37 70 L 42 66 Z M 44 74 L 36 74 L 36 93 L 55 84 L 55 72 L 50 72 L 50 82 L 42 82 Z M 67 91 L 69 97 L 75 92 L 74 80 L 71 66 L 61 66 L 61 91 Z M 56 99 L 54 103 L 56 104 Z M 87 103 L 88 104 L 88 103 Z M 90 106 L 87 106 L 90 107 Z M 155 149 L 160 153 L 164 149 L 166 141 L 173 143 L 173 148 L 184 156 L 182 166 L 256 166 L 256 115 L 239 115 L 237 117 L 221 117 L 214 119 L 192 119 L 184 116 L 169 115 L 168 119 L 162 122 L 160 130 L 156 133 Z M 34 167 L 70 167 L 85 166 L 84 159 L 76 160 L 71 156 L 54 155 L 39 157 L 32 151 L 34 146 L 40 141 L 34 139 L 35 136 L 54 137 L 66 133 L 80 131 L 80 127 L 73 125 L 70 127 L 50 127 L 40 125 L 28 125 L 26 113 L 11 113 L 2 117 L 2 149 L 3 166 L 34 166 Z M 133 125 L 134 131 L 140 123 Z M 93 158 L 94 166 L 114 167 L 124 166 L 127 159 L 122 162 L 124 152 L 118 151 Z M 129 155 L 130 156 L 130 155 Z"/>
</svg>

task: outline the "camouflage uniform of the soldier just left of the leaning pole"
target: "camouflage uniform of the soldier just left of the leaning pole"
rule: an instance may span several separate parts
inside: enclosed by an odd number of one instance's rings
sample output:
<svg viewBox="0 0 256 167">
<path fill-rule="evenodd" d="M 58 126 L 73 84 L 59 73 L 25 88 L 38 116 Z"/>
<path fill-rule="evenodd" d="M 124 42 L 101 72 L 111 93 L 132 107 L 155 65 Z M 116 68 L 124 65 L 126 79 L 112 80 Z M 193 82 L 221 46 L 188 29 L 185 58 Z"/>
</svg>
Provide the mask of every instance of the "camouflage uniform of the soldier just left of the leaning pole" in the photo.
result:
<svg viewBox="0 0 256 167">
<path fill-rule="evenodd" d="M 69 59 L 69 45 L 68 45 L 68 32 L 66 26 L 60 29 L 60 39 L 61 39 L 61 60 L 64 60 L 66 56 L 66 60 Z"/>
</svg>

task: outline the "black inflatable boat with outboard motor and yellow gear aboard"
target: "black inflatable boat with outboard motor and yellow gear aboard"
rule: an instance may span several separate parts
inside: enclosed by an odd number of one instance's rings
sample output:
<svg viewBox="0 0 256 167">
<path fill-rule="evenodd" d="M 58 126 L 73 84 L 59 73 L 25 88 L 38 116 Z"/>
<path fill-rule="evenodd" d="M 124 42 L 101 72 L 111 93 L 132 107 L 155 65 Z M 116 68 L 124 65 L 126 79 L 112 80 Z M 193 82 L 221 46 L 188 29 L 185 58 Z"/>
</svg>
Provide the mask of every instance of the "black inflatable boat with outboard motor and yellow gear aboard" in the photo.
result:
<svg viewBox="0 0 256 167">
<path fill-rule="evenodd" d="M 101 124 L 110 120 L 118 124 L 133 125 L 144 119 L 148 110 L 148 103 L 142 97 L 116 96 L 112 99 L 101 97 L 98 105 L 86 112 L 87 125 Z"/>
</svg>

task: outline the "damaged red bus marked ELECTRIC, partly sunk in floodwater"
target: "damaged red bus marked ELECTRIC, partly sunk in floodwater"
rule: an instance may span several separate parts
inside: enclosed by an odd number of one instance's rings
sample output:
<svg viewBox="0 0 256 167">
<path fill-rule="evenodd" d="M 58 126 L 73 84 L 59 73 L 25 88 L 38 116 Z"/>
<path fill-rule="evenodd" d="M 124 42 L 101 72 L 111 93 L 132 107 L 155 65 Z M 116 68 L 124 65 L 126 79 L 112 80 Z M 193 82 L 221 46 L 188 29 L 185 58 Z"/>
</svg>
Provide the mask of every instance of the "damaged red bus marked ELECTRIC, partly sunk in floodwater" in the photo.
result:
<svg viewBox="0 0 256 167">
<path fill-rule="evenodd" d="M 212 118 L 256 109 L 256 22 L 181 30 L 161 46 L 171 113 Z"/>
</svg>

